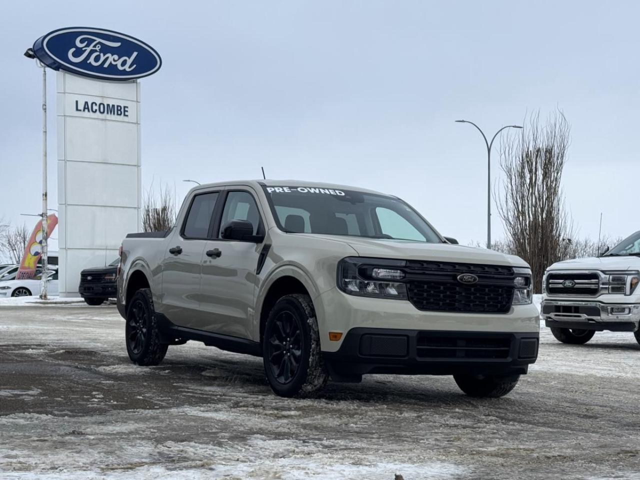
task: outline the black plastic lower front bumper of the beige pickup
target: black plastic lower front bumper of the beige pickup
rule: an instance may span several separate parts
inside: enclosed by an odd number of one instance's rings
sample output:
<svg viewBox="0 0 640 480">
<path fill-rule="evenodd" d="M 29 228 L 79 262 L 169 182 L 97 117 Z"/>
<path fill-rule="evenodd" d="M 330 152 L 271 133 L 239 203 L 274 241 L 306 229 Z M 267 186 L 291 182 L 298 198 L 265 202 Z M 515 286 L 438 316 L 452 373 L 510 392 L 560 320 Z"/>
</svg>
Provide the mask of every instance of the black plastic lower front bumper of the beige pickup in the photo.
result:
<svg viewBox="0 0 640 480">
<path fill-rule="evenodd" d="M 323 358 L 334 381 L 358 381 L 369 373 L 509 376 L 527 373 L 538 343 L 538 332 L 352 328 Z"/>
</svg>

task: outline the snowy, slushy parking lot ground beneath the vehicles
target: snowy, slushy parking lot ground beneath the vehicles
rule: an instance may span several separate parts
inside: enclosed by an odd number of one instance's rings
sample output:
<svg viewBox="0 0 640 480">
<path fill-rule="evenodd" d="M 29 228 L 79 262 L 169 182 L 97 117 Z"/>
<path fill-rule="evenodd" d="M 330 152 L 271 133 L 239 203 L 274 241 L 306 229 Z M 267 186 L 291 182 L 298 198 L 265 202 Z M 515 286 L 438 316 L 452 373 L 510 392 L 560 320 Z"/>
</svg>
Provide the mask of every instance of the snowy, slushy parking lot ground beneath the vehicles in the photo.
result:
<svg viewBox="0 0 640 480">
<path fill-rule="evenodd" d="M 137 367 L 115 306 L 0 307 L 3 479 L 640 479 L 640 346 L 543 328 L 507 397 L 369 376 L 271 393 L 260 358 L 189 342 Z"/>
</svg>

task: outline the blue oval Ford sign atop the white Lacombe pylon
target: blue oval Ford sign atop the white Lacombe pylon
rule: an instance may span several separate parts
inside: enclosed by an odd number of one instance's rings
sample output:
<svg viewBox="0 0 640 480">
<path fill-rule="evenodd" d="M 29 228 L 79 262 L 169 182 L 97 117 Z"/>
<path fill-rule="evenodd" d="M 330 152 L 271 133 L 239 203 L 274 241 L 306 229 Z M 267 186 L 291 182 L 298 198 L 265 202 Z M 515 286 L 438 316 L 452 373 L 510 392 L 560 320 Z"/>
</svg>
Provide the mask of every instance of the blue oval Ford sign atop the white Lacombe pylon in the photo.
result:
<svg viewBox="0 0 640 480">
<path fill-rule="evenodd" d="M 54 70 L 67 70 L 103 80 L 134 80 L 157 72 L 162 59 L 137 38 L 101 28 L 61 28 L 33 44 L 38 60 Z"/>
</svg>

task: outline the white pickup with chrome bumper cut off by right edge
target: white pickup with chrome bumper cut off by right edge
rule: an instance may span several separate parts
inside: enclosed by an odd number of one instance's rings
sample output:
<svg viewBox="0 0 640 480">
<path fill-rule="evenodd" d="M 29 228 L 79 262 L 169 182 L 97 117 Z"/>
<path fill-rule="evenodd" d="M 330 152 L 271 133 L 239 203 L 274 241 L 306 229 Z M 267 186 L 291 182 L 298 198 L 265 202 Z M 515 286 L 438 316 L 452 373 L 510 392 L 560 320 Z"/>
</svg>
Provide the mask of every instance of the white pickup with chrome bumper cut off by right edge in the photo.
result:
<svg viewBox="0 0 640 480">
<path fill-rule="evenodd" d="M 633 332 L 640 343 L 640 232 L 600 257 L 545 272 L 541 315 L 557 340 L 585 344 L 596 332 Z"/>
</svg>

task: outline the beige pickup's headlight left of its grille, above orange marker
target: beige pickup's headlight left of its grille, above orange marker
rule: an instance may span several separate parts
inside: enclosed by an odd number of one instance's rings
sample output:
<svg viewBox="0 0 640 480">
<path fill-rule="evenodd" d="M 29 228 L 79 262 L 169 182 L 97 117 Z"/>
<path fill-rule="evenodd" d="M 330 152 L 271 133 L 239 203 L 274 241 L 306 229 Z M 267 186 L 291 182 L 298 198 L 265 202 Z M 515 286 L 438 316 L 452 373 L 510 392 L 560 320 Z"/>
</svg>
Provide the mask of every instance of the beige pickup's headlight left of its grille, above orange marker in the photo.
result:
<svg viewBox="0 0 640 480">
<path fill-rule="evenodd" d="M 404 278 L 397 268 L 404 265 L 404 260 L 347 257 L 338 264 L 337 285 L 349 295 L 408 300 L 406 285 L 392 281 Z"/>
</svg>

